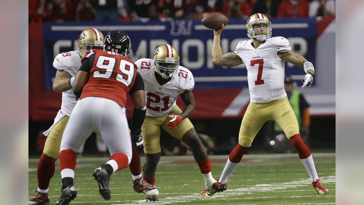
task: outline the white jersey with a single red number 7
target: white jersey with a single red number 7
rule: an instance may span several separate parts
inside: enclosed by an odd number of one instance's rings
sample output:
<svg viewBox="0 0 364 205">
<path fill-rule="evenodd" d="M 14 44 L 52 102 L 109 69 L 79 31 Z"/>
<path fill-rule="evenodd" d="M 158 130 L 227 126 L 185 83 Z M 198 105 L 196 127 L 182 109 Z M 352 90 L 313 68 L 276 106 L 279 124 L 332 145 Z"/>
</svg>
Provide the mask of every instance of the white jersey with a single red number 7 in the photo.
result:
<svg viewBox="0 0 364 205">
<path fill-rule="evenodd" d="M 289 51 L 291 47 L 281 36 L 267 38 L 257 49 L 253 39 L 238 43 L 235 53 L 248 69 L 250 102 L 264 103 L 286 96 L 284 90 L 284 60 L 278 58 L 278 51 Z"/>
</svg>

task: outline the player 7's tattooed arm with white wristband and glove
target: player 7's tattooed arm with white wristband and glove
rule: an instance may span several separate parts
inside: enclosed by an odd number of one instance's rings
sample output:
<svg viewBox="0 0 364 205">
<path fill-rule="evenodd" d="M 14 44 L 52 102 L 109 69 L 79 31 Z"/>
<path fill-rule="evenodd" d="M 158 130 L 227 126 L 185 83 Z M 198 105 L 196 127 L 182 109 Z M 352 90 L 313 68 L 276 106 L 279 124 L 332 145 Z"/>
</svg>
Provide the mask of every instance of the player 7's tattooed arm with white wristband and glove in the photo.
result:
<svg viewBox="0 0 364 205">
<path fill-rule="evenodd" d="M 292 51 L 281 52 L 278 51 L 278 57 L 296 66 L 302 67 L 306 75 L 302 78 L 302 88 L 309 87 L 313 81 L 314 68 L 311 62 L 308 62 L 302 55 Z"/>
</svg>

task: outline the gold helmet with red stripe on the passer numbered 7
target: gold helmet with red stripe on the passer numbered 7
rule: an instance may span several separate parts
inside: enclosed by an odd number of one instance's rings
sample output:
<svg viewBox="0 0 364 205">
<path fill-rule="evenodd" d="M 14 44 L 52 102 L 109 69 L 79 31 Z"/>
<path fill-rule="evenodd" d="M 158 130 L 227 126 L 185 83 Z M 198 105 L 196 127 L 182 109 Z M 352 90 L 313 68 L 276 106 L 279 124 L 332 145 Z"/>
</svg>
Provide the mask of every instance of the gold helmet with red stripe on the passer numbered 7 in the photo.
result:
<svg viewBox="0 0 364 205">
<path fill-rule="evenodd" d="M 253 26 L 255 24 L 261 24 L 261 23 L 265 24 L 266 27 L 253 29 Z M 266 35 L 261 34 L 262 30 L 266 30 Z M 259 41 L 263 41 L 267 38 L 272 37 L 272 23 L 270 23 L 266 15 L 262 13 L 255 13 L 251 15 L 248 21 L 246 22 L 246 31 L 248 32 L 249 38 L 251 39 L 255 38 Z M 259 35 L 255 34 L 256 31 L 259 31 Z"/>
</svg>

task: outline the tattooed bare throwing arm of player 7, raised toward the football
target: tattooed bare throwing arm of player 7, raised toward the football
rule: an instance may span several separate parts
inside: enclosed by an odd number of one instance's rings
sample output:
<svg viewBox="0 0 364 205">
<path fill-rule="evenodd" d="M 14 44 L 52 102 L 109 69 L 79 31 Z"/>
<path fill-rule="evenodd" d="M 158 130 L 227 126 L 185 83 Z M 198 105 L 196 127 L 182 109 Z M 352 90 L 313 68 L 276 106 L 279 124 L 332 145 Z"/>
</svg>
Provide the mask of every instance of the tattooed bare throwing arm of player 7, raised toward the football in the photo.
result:
<svg viewBox="0 0 364 205">
<path fill-rule="evenodd" d="M 224 28 L 224 24 L 221 28 L 214 30 L 214 41 L 212 43 L 212 62 L 218 66 L 238 66 L 243 63 L 242 59 L 235 53 L 230 52 L 223 54 L 220 42 L 221 32 Z"/>
</svg>

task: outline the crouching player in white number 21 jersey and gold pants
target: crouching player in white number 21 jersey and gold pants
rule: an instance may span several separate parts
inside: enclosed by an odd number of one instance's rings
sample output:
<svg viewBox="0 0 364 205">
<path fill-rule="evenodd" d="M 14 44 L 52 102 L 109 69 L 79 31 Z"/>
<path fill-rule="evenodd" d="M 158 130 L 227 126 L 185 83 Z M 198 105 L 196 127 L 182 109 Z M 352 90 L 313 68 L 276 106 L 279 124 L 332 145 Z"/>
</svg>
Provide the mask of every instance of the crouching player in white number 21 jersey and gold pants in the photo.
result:
<svg viewBox="0 0 364 205">
<path fill-rule="evenodd" d="M 154 52 L 154 59 L 142 58 L 135 62 L 135 65 L 144 81 L 147 108 L 141 133 L 146 158 L 143 178 L 154 185 L 154 174 L 161 157 L 159 137 L 162 127 L 192 148 L 194 158 L 205 178 L 206 189 L 211 192 L 225 190 L 226 185 L 212 177 L 206 149 L 187 118 L 195 109 L 191 91 L 194 88 L 194 80 L 191 71 L 179 65 L 177 50 L 167 44 L 158 46 Z M 183 111 L 176 105 L 178 96 L 181 96 L 185 103 Z M 158 201 L 158 198 L 147 197 L 147 201 Z"/>
</svg>

